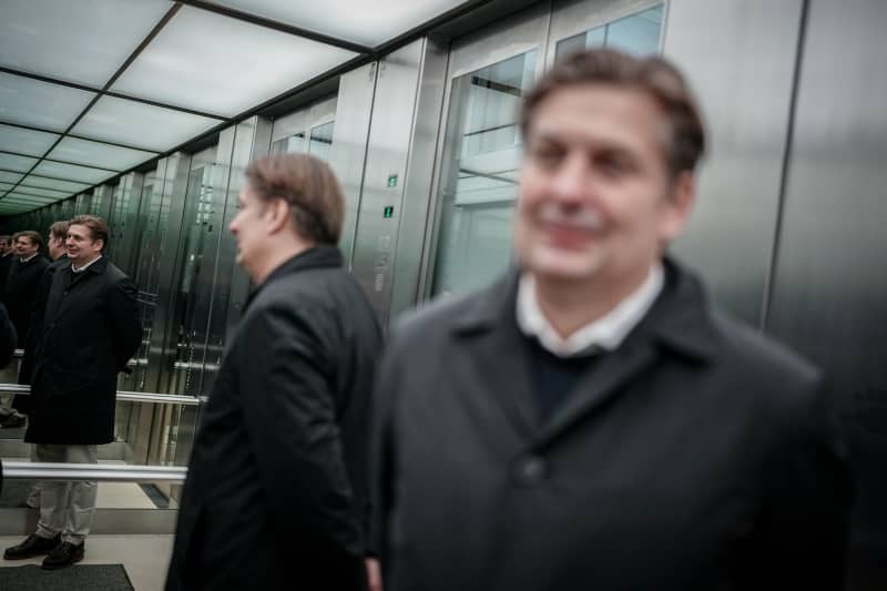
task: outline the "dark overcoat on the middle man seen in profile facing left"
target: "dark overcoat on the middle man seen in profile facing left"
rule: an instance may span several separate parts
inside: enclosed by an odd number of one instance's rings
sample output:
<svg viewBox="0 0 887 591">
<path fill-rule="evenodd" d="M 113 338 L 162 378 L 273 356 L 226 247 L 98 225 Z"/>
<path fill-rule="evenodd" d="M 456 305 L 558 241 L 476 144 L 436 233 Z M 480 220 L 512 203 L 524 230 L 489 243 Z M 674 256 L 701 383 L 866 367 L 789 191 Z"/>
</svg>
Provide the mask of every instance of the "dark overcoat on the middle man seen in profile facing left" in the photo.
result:
<svg viewBox="0 0 887 591">
<path fill-rule="evenodd" d="M 381 335 L 333 246 L 258 287 L 202 416 L 167 590 L 363 589 Z"/>
</svg>

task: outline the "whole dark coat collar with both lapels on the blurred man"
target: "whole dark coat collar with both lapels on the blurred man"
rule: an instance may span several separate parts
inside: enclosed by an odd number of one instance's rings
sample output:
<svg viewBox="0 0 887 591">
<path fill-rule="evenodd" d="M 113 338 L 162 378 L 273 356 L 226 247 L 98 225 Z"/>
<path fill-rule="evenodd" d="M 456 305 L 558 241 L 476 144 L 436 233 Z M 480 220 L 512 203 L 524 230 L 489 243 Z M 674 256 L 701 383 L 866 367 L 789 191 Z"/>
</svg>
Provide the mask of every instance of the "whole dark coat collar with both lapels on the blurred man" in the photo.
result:
<svg viewBox="0 0 887 591">
<path fill-rule="evenodd" d="M 646 316 L 620 347 L 605 354 L 572 396 L 541 424 L 529 371 L 526 338 L 518 328 L 516 303 L 519 271 L 470 299 L 452 334 L 471 360 L 483 390 L 498 399 L 514 428 L 542 447 L 580 417 L 615 396 L 665 355 L 705 364 L 718 349 L 717 330 L 700 283 L 674 262 L 664 261 L 665 284 Z"/>
</svg>

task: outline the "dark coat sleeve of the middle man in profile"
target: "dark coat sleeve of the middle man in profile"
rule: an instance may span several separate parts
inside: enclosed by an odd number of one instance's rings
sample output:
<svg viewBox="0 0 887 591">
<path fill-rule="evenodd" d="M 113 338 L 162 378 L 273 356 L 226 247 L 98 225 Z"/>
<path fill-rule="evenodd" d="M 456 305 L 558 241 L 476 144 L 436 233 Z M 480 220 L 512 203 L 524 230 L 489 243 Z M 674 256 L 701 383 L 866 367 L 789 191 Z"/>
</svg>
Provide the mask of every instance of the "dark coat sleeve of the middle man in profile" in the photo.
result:
<svg viewBox="0 0 887 591">
<path fill-rule="evenodd" d="M 239 374 L 249 393 L 244 416 L 275 534 L 312 540 L 309 560 L 326 562 L 329 589 L 364 589 L 363 508 L 355 507 L 318 319 L 279 306 L 246 320 L 252 364 Z M 243 354 L 241 354 L 243 355 Z M 244 356 L 246 358 L 246 356 Z"/>
</svg>

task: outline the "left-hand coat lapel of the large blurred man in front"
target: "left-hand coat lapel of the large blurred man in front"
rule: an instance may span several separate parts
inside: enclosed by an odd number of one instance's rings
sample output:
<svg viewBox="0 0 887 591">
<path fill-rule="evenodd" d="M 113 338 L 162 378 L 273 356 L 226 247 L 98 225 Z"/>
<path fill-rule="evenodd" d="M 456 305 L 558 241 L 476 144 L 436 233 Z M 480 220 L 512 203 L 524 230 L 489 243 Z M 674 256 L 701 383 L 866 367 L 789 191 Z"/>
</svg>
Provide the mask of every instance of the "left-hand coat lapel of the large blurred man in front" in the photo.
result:
<svg viewBox="0 0 887 591">
<path fill-rule="evenodd" d="M 517 325 L 517 282 L 513 271 L 478 297 L 457 323 L 456 338 L 485 396 L 495 399 L 514 429 L 526 438 L 539 429 L 527 344 Z"/>
</svg>

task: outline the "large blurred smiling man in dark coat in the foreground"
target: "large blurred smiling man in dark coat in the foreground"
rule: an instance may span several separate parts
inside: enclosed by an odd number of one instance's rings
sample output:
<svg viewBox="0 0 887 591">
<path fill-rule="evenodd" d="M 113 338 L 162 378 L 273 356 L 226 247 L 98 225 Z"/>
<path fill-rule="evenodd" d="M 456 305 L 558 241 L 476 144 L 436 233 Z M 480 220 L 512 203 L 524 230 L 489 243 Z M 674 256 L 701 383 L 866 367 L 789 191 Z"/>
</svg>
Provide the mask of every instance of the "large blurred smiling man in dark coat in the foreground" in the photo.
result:
<svg viewBox="0 0 887 591">
<path fill-rule="evenodd" d="M 849 477 L 819 371 L 664 256 L 703 126 L 610 50 L 527 98 L 517 268 L 391 337 L 386 589 L 842 589 Z"/>
</svg>

